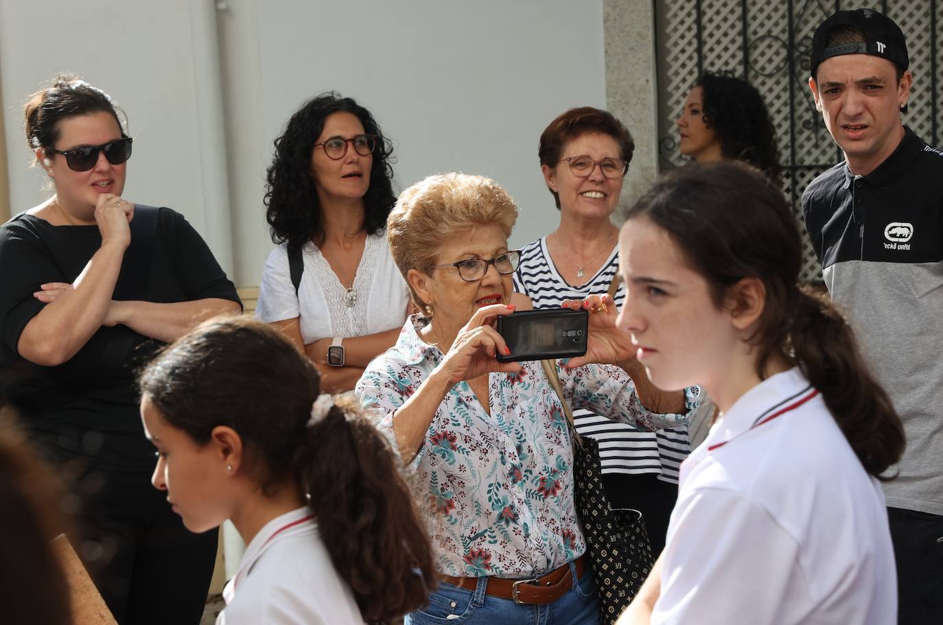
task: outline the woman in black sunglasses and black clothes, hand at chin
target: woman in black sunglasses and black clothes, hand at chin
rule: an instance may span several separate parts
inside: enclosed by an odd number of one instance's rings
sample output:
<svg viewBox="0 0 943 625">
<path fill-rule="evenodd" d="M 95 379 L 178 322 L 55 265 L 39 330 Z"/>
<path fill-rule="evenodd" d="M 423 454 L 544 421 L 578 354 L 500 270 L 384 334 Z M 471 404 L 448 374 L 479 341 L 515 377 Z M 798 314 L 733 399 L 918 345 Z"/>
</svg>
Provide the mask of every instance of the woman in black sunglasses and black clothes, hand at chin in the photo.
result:
<svg viewBox="0 0 943 625">
<path fill-rule="evenodd" d="M 75 550 L 119 623 L 197 623 L 215 535 L 150 486 L 134 370 L 236 289 L 169 208 L 122 197 L 131 139 L 108 95 L 59 76 L 25 105 L 55 193 L 0 227 L 0 360 L 32 440 L 69 481 Z"/>
</svg>

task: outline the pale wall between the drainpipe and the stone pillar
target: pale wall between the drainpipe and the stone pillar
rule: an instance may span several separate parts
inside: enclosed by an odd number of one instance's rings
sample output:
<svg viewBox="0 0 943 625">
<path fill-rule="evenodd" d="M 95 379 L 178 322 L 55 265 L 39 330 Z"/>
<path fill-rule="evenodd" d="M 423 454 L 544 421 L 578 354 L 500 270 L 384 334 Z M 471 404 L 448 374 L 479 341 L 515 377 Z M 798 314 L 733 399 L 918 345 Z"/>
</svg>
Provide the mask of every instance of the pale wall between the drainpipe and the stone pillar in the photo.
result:
<svg viewBox="0 0 943 625">
<path fill-rule="evenodd" d="M 392 138 L 396 191 L 480 173 L 521 208 L 514 245 L 555 227 L 538 140 L 565 109 L 605 106 L 602 0 L 265 0 L 257 32 L 267 147 L 307 98 L 338 90 Z"/>
</svg>

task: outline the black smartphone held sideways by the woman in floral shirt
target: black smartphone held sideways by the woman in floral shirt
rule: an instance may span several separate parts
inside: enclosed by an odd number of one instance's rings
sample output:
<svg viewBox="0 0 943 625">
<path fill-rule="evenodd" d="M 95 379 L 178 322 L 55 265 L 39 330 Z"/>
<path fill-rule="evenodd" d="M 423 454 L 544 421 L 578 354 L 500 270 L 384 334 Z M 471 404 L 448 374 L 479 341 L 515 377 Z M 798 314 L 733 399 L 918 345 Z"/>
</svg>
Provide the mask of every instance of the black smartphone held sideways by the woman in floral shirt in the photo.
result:
<svg viewBox="0 0 943 625">
<path fill-rule="evenodd" d="M 498 318 L 497 330 L 509 355 L 499 362 L 572 358 L 587 353 L 589 315 L 586 310 L 543 308 Z"/>
</svg>

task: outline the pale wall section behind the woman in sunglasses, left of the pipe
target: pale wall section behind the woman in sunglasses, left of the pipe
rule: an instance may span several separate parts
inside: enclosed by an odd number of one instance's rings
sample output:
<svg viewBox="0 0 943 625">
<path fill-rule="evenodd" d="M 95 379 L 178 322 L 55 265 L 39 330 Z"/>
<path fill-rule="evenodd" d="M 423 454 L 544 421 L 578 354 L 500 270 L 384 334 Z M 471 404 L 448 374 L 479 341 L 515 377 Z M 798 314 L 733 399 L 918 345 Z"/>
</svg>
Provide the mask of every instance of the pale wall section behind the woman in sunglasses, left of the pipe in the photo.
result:
<svg viewBox="0 0 943 625">
<path fill-rule="evenodd" d="M 59 72 L 108 91 L 129 119 L 124 197 L 171 206 L 232 271 L 216 16 L 207 0 L 0 0 L 0 79 L 11 212 L 49 196 L 29 168 L 25 98 Z"/>
</svg>

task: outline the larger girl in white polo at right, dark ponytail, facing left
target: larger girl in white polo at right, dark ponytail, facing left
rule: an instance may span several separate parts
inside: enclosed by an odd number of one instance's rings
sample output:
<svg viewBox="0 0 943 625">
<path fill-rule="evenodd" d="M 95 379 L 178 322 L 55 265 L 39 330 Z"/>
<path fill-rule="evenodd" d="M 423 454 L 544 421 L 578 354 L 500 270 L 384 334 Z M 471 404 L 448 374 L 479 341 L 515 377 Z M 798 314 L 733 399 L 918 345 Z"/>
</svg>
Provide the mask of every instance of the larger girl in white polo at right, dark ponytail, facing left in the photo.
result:
<svg viewBox="0 0 943 625">
<path fill-rule="evenodd" d="M 655 386 L 701 385 L 720 407 L 620 623 L 896 622 L 879 480 L 901 420 L 846 321 L 797 286 L 782 192 L 742 165 L 676 171 L 628 212 L 620 258 L 621 337 Z"/>
</svg>

